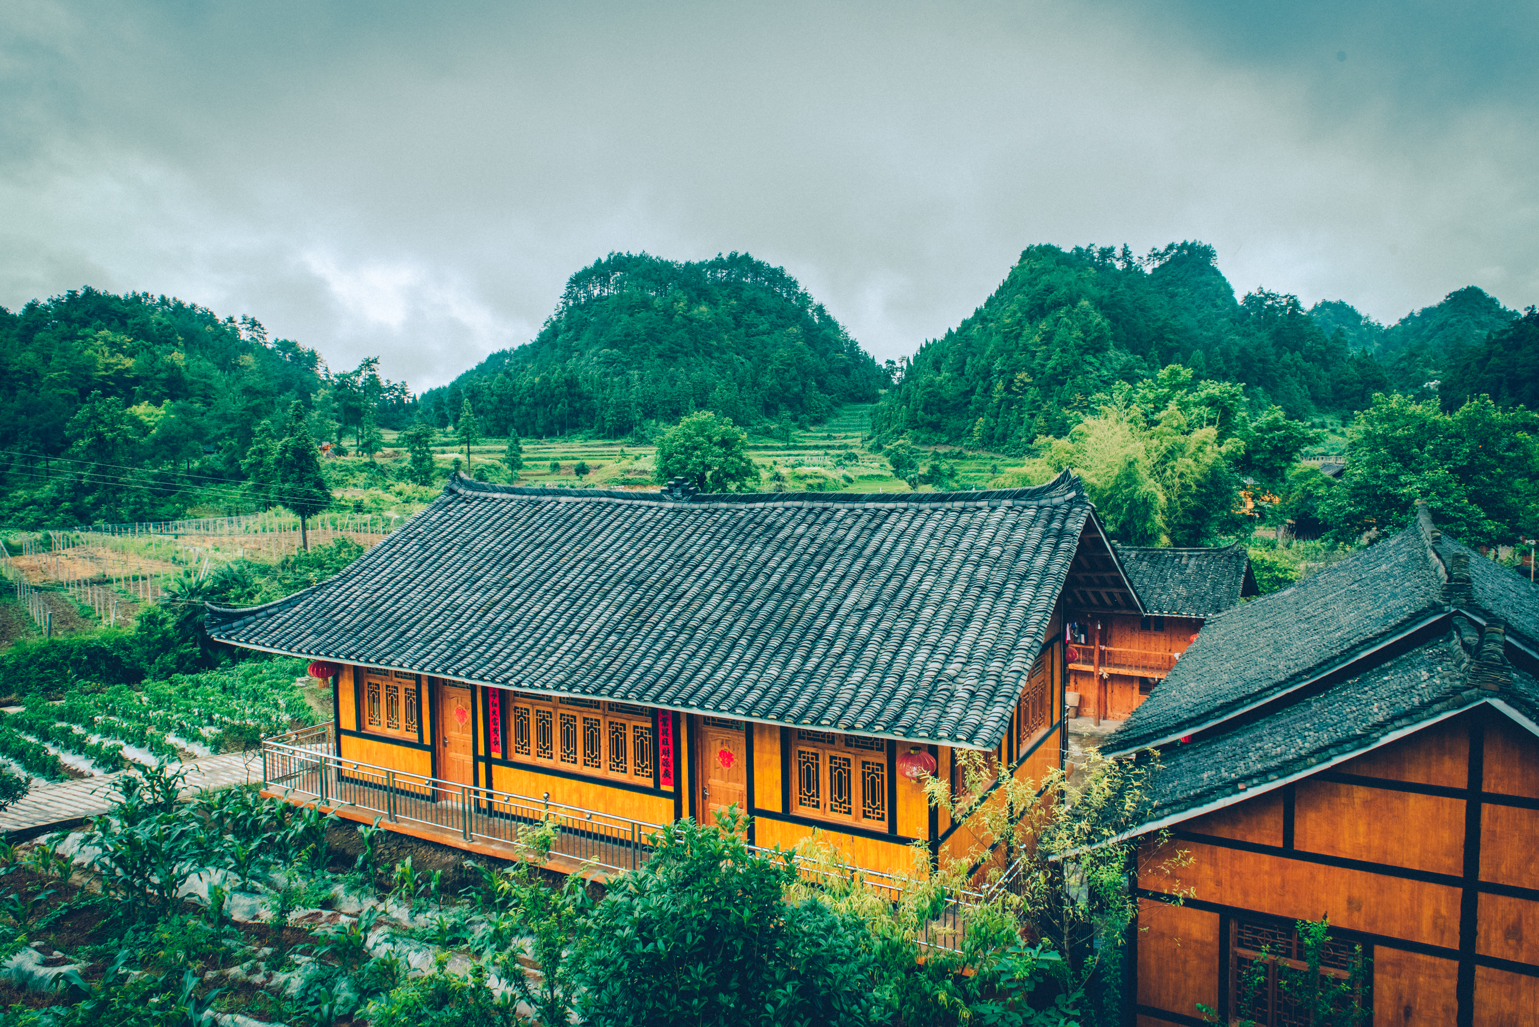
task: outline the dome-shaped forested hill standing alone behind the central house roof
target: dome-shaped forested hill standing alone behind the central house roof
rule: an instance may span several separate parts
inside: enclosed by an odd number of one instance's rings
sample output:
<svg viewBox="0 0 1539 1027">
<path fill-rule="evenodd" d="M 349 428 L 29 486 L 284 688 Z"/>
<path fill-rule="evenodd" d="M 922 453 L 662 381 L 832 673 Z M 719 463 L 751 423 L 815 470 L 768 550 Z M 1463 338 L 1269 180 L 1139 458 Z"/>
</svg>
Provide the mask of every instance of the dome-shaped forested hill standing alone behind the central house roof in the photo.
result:
<svg viewBox="0 0 1539 1027">
<path fill-rule="evenodd" d="M 796 278 L 748 254 L 611 254 L 574 274 L 528 344 L 423 394 L 436 426 L 471 400 L 492 435 L 619 438 L 711 409 L 743 426 L 819 421 L 886 375 Z"/>
</svg>

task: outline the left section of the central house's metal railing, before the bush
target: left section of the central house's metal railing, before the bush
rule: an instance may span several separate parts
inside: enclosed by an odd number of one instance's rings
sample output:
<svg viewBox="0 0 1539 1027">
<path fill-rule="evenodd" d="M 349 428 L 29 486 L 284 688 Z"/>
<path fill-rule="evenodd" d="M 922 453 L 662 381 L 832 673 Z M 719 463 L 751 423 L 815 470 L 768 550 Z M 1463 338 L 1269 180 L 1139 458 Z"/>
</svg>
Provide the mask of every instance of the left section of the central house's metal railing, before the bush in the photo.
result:
<svg viewBox="0 0 1539 1027">
<path fill-rule="evenodd" d="M 377 767 L 337 755 L 331 724 L 263 740 L 262 781 L 268 789 L 379 813 L 388 824 L 420 824 L 465 841 L 520 844 L 520 829 L 551 826 L 551 855 L 605 870 L 636 870 L 651 853 L 648 835 L 660 824 L 528 798 L 408 770 Z"/>
</svg>

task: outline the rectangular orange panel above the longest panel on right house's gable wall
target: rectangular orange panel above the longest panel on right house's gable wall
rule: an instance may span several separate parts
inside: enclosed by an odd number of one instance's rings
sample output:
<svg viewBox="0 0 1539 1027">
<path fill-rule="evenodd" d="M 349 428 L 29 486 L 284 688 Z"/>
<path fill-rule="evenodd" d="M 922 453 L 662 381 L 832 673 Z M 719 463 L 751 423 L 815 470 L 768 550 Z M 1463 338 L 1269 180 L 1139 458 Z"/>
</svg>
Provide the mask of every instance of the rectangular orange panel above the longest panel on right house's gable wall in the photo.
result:
<svg viewBox="0 0 1539 1027">
<path fill-rule="evenodd" d="M 1464 873 L 1464 799 L 1300 781 L 1293 844 L 1347 859 Z"/>
</svg>

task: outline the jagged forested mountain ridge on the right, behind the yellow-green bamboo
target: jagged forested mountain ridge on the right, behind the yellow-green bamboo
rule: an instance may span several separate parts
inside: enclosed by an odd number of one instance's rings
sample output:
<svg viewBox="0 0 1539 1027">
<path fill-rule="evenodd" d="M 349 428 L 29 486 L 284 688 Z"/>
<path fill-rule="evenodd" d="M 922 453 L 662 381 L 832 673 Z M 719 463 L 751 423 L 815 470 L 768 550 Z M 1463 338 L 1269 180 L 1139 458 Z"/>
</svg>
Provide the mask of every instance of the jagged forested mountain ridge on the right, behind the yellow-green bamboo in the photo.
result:
<svg viewBox="0 0 1539 1027">
<path fill-rule="evenodd" d="M 1305 311 L 1264 289 L 1236 300 L 1203 243 L 1145 257 L 1127 246 L 1033 246 L 983 306 L 919 347 L 873 426 L 883 438 L 1019 454 L 1037 437 L 1063 435 L 1114 383 L 1167 364 L 1247 386 L 1254 412 L 1350 414 L 1374 392 L 1473 380 L 1459 361 L 1516 317 L 1471 286 L 1384 327 L 1342 301 Z M 1485 361 L 1522 364 L 1521 341 Z"/>
</svg>

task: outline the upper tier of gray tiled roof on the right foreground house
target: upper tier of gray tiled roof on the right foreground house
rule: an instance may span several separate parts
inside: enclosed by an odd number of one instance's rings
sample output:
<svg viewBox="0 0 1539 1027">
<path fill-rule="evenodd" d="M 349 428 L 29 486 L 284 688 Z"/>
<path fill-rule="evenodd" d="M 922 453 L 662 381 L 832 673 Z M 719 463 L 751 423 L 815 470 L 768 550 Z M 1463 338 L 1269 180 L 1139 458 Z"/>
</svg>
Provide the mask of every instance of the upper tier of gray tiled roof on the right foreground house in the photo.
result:
<svg viewBox="0 0 1539 1027">
<path fill-rule="evenodd" d="M 1411 526 L 1208 620 L 1107 750 L 1157 746 L 1233 716 L 1444 609 L 1442 580 Z"/>
</svg>

